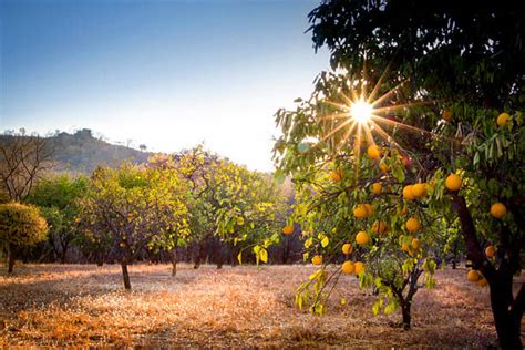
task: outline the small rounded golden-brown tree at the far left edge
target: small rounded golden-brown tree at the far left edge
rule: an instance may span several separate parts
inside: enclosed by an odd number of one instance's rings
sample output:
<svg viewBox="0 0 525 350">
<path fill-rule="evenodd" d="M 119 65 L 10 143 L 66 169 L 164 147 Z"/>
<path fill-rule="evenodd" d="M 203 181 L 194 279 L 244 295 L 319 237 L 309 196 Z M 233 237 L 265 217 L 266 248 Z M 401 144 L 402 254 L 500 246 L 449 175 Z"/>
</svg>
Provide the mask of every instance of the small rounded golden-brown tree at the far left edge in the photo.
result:
<svg viewBox="0 0 525 350">
<path fill-rule="evenodd" d="M 37 207 L 19 203 L 0 204 L 0 241 L 8 248 L 8 272 L 22 247 L 45 240 L 48 225 Z"/>
</svg>

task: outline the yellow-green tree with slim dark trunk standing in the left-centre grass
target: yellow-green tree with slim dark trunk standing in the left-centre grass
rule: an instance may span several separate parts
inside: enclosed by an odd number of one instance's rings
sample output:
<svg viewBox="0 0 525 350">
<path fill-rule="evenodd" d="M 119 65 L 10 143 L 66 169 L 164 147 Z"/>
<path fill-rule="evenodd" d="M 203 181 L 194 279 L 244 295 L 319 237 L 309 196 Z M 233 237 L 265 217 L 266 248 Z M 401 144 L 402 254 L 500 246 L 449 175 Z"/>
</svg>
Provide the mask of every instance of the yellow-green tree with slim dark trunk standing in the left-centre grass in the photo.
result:
<svg viewBox="0 0 525 350">
<path fill-rule="evenodd" d="M 110 243 L 121 262 L 125 289 L 131 289 L 127 266 L 141 251 L 187 228 L 187 208 L 175 195 L 178 185 L 177 177 L 131 164 L 94 172 L 82 200 L 81 222 L 93 240 Z"/>
</svg>

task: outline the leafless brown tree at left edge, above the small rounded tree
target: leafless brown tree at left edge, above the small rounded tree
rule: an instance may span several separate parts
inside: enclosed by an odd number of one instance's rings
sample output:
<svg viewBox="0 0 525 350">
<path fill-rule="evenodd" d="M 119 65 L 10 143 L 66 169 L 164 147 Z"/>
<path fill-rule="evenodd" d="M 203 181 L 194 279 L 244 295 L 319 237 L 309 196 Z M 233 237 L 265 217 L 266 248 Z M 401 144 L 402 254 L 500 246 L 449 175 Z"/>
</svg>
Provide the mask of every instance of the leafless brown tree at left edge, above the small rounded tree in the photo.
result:
<svg viewBox="0 0 525 350">
<path fill-rule="evenodd" d="M 0 186 L 16 202 L 23 202 L 35 181 L 53 166 L 53 145 L 49 138 L 18 133 L 0 135 Z"/>
</svg>

